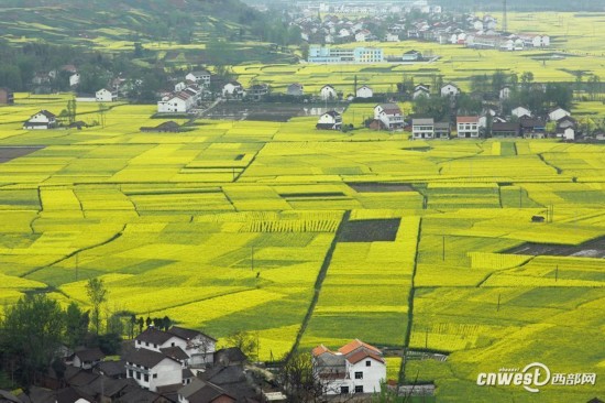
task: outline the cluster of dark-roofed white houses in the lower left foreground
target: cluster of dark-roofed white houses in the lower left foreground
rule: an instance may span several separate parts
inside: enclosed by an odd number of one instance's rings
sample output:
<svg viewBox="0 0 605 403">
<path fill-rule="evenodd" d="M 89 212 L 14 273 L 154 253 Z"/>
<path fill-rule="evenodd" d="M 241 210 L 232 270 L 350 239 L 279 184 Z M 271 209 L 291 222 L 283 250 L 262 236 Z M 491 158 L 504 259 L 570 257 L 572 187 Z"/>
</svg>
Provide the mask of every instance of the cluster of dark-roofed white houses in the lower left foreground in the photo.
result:
<svg viewBox="0 0 605 403">
<path fill-rule="evenodd" d="M 173 326 L 141 333 L 120 360 L 105 360 L 98 348 L 67 352 L 66 370 L 50 370 L 42 386 L 10 395 L 14 403 L 231 403 L 261 402 L 250 382 L 245 355 L 235 347 L 216 350 L 200 331 Z M 283 400 L 284 401 L 284 400 Z"/>
</svg>

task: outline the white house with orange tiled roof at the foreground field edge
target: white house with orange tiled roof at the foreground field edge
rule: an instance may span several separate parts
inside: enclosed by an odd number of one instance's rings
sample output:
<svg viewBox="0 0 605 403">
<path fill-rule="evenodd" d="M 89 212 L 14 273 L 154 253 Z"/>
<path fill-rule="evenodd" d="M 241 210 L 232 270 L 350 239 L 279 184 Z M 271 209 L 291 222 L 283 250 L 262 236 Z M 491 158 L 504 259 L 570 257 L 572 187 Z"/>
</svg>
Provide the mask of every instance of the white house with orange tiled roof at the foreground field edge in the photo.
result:
<svg viewBox="0 0 605 403">
<path fill-rule="evenodd" d="M 378 393 L 386 381 L 386 361 L 376 347 L 359 339 L 331 351 L 321 345 L 312 350 L 314 373 L 324 394 Z"/>
</svg>

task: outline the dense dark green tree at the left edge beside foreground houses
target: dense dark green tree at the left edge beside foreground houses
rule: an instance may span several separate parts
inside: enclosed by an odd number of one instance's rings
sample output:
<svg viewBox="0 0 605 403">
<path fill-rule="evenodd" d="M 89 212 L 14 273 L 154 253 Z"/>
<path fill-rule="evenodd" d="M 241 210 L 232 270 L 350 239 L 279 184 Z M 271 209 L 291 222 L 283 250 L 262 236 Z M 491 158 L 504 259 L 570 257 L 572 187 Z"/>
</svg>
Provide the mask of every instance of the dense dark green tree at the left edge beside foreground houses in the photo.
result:
<svg viewBox="0 0 605 403">
<path fill-rule="evenodd" d="M 0 351 L 16 366 L 16 378 L 35 382 L 56 358 L 65 330 L 65 314 L 46 294 L 28 294 L 7 307 L 0 322 Z"/>
</svg>

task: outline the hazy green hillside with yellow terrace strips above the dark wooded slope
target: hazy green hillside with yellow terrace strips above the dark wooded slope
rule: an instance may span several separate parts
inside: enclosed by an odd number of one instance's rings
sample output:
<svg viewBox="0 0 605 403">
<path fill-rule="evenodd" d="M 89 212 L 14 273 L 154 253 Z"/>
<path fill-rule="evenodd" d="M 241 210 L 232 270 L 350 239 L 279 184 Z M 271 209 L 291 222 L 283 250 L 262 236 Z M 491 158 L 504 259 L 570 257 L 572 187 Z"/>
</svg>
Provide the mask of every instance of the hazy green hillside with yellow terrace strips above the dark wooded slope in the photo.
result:
<svg viewBox="0 0 605 403">
<path fill-rule="evenodd" d="M 59 44 L 262 39 L 266 22 L 265 15 L 240 0 L 3 0 L 0 3 L 1 36 Z"/>
</svg>

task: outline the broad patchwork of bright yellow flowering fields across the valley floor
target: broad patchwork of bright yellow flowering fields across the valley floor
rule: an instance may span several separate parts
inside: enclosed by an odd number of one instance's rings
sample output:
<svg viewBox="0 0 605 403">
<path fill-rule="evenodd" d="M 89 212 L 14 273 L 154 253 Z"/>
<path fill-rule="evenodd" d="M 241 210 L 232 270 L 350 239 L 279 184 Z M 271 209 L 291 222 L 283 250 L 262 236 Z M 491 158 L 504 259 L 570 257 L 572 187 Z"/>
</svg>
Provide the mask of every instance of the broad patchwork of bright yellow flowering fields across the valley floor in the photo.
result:
<svg viewBox="0 0 605 403">
<path fill-rule="evenodd" d="M 110 311 L 219 338 L 257 333 L 261 359 L 353 337 L 444 351 L 403 366 L 444 402 L 536 401 L 475 384 L 534 361 L 605 375 L 605 260 L 514 253 L 605 235 L 601 145 L 410 142 L 318 132 L 314 118 L 141 133 L 160 123 L 154 107 L 128 105 L 105 128 L 21 129 L 65 102 L 20 94 L 0 108 L 3 305 L 45 291 L 86 306 L 85 283 L 100 276 Z M 544 388 L 540 401 L 604 394 L 597 381 Z"/>
</svg>

